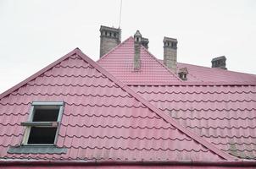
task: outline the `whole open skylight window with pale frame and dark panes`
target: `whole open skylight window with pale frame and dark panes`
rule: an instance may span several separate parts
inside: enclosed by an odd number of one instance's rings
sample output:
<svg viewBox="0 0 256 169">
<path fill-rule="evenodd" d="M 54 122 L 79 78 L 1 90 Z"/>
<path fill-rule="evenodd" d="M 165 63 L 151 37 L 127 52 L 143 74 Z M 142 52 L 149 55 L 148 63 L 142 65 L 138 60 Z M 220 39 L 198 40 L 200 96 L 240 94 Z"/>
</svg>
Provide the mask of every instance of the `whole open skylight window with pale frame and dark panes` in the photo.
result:
<svg viewBox="0 0 256 169">
<path fill-rule="evenodd" d="M 23 144 L 56 144 L 58 126 L 63 112 L 64 102 L 34 101 L 26 127 Z"/>
</svg>

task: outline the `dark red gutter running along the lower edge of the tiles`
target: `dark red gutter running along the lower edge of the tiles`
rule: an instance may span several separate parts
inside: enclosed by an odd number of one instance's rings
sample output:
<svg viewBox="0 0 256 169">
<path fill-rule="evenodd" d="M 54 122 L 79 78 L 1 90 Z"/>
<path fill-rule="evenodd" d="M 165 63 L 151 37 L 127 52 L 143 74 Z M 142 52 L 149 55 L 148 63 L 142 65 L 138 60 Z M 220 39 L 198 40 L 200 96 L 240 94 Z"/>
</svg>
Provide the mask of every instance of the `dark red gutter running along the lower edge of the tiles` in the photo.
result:
<svg viewBox="0 0 256 169">
<path fill-rule="evenodd" d="M 256 166 L 256 161 L 38 161 L 3 160 L 0 166 Z"/>
</svg>

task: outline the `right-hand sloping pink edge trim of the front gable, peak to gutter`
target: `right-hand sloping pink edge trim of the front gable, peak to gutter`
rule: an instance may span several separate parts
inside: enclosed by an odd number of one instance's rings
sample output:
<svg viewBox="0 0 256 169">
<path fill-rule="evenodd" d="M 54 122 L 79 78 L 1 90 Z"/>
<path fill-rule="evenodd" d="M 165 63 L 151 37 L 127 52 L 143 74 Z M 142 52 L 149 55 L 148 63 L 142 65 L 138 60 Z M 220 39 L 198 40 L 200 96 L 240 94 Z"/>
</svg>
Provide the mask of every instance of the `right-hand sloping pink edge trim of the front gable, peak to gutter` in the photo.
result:
<svg viewBox="0 0 256 169">
<path fill-rule="evenodd" d="M 146 101 L 144 98 L 142 98 L 141 95 L 136 94 L 134 90 L 131 90 L 131 88 L 128 85 L 123 84 L 119 79 L 116 79 L 112 74 L 110 74 L 107 70 L 102 68 L 100 65 L 98 65 L 96 62 L 94 62 L 90 57 L 87 57 L 81 50 L 78 51 L 79 56 L 83 58 L 87 63 L 91 64 L 94 68 L 96 68 L 99 72 L 107 76 L 110 80 L 112 80 L 116 85 L 119 85 L 120 88 L 125 90 L 127 93 L 132 95 L 136 98 L 136 100 L 142 102 L 147 108 L 151 109 L 153 112 L 155 112 L 159 117 L 162 117 L 167 123 L 170 123 L 175 128 L 181 131 L 181 133 L 186 134 L 188 137 L 194 139 L 199 144 L 202 144 L 204 147 L 207 147 L 210 151 L 214 152 L 214 154 L 221 156 L 225 160 L 237 160 L 234 156 L 231 156 L 229 154 L 226 154 L 224 151 L 219 150 L 217 147 L 215 147 L 213 144 L 210 144 L 205 139 L 202 139 L 197 134 L 192 133 L 185 127 L 183 127 L 180 123 L 177 123 L 174 119 L 172 119 L 170 116 L 159 110 L 159 108 L 153 106 L 151 103 Z"/>
</svg>

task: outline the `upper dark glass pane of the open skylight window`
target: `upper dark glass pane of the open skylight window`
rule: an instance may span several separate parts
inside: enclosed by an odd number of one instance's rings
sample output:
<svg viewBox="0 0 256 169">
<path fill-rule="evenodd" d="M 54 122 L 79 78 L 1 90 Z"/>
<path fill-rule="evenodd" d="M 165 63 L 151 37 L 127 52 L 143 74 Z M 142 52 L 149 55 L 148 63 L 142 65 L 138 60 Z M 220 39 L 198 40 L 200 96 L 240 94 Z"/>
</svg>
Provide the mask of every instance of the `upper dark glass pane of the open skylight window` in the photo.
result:
<svg viewBox="0 0 256 169">
<path fill-rule="evenodd" d="M 59 109 L 36 109 L 33 122 L 54 122 L 58 120 Z"/>
</svg>

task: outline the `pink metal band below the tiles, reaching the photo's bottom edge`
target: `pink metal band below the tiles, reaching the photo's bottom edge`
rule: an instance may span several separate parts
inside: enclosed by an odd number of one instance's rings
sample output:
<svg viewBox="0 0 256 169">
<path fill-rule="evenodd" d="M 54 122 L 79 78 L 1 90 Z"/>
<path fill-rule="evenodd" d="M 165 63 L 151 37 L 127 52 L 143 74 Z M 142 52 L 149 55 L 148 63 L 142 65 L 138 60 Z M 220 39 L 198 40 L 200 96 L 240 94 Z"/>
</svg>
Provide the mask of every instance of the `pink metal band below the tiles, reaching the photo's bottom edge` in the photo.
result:
<svg viewBox="0 0 256 169">
<path fill-rule="evenodd" d="M 17 168 L 76 168 L 76 169 L 95 169 L 95 168 L 121 168 L 121 169 L 137 169 L 137 168 L 172 168 L 172 169 L 254 169 L 255 161 L 0 161 L 0 166 L 8 169 Z"/>
</svg>

